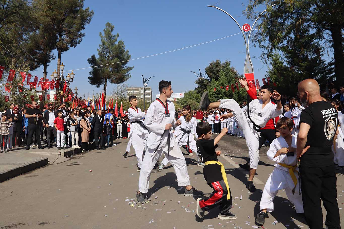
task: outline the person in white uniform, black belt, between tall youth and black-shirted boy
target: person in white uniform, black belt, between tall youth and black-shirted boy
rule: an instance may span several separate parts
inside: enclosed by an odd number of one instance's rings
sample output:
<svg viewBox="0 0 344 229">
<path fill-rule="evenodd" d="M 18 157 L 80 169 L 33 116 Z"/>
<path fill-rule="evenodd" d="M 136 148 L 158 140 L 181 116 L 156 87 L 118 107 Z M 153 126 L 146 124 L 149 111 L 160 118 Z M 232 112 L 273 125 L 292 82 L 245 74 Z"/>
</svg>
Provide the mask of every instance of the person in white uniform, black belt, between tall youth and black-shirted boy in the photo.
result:
<svg viewBox="0 0 344 229">
<path fill-rule="evenodd" d="M 201 161 L 200 157 L 198 157 L 196 141 L 191 133 L 193 130 L 196 138 L 198 138 L 196 133 L 197 119 L 192 116 L 192 110 L 189 105 L 185 105 L 183 107 L 183 115 L 179 117 L 179 120 L 181 121 L 181 124 L 175 128 L 173 133 L 175 135 L 176 143 L 179 146 L 187 145 L 188 150 L 191 149 L 193 152 L 195 152 L 198 161 L 197 165 L 203 167 L 204 163 Z M 191 155 L 189 154 L 189 156 Z M 167 157 L 165 157 L 159 165 L 159 171 L 163 171 L 164 166 L 166 166 L 168 163 L 169 160 Z"/>
</svg>

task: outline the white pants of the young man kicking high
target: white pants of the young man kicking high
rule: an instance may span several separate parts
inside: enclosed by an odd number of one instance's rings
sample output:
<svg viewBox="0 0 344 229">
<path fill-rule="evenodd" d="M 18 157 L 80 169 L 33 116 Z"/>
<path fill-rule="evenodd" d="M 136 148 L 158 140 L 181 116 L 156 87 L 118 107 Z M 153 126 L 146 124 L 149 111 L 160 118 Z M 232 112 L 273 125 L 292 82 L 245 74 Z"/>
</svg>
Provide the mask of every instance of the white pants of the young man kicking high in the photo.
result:
<svg viewBox="0 0 344 229">
<path fill-rule="evenodd" d="M 250 126 L 244 112 L 241 111 L 239 104 L 234 99 L 221 99 L 220 106 L 218 108 L 232 110 L 235 120 L 245 136 L 246 145 L 248 147 L 248 153 L 250 156 L 250 168 L 257 168 L 259 162 L 258 134 L 254 133 L 254 130 Z"/>
</svg>

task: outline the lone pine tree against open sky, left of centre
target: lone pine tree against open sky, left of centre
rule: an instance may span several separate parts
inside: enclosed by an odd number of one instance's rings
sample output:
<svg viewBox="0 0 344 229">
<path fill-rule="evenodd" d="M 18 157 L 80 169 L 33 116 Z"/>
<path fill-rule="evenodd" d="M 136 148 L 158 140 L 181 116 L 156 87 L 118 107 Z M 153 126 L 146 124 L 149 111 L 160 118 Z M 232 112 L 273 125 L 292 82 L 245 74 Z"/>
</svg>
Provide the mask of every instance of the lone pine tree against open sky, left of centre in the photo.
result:
<svg viewBox="0 0 344 229">
<path fill-rule="evenodd" d="M 87 59 L 91 67 L 98 65 L 106 65 L 102 67 L 95 67 L 89 72 L 88 81 L 92 85 L 100 87 L 104 84 L 104 95 L 106 95 L 107 80 L 112 84 L 120 84 L 130 78 L 130 71 L 134 67 L 126 66 L 131 58 L 129 51 L 125 49 L 124 42 L 117 39 L 119 34 L 112 34 L 115 26 L 107 22 L 103 33 L 99 33 L 100 44 L 98 51 L 98 58 L 92 55 Z M 116 43 L 117 42 L 117 43 Z M 111 64 L 121 62 L 117 64 Z"/>
</svg>

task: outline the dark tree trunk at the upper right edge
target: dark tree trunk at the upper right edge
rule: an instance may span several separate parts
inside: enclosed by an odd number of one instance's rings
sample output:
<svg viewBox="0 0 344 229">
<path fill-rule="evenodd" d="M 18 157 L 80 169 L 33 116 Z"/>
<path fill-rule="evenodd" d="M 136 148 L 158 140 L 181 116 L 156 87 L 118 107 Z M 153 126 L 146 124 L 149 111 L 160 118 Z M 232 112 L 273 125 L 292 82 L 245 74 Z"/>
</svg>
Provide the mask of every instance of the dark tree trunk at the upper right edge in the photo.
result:
<svg viewBox="0 0 344 229">
<path fill-rule="evenodd" d="M 340 86 L 343 83 L 344 75 L 342 27 L 338 24 L 333 24 L 330 26 L 330 28 L 334 50 L 334 74 L 336 76 L 336 85 Z"/>
</svg>

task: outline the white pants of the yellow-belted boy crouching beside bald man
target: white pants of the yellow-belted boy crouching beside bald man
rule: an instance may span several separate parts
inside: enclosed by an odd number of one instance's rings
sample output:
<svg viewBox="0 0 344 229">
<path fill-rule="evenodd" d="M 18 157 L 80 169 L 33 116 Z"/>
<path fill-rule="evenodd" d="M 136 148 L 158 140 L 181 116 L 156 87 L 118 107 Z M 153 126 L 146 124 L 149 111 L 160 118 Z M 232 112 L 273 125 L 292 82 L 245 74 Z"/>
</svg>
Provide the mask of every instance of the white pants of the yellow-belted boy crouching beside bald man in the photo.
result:
<svg viewBox="0 0 344 229">
<path fill-rule="evenodd" d="M 294 173 L 298 177 L 298 171 L 295 170 Z M 291 191 L 293 188 L 294 182 L 289 172 L 275 168 L 265 184 L 259 205 L 260 210 L 266 209 L 267 211 L 273 211 L 273 198 L 275 198 L 279 190 L 284 189 L 288 199 L 295 206 L 295 211 L 297 213 L 303 213 L 302 195 L 299 195 L 299 179 L 294 194 Z"/>
</svg>

